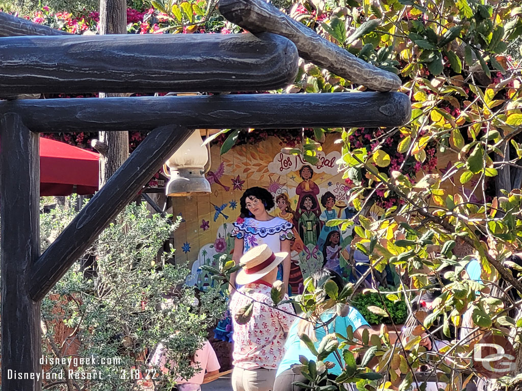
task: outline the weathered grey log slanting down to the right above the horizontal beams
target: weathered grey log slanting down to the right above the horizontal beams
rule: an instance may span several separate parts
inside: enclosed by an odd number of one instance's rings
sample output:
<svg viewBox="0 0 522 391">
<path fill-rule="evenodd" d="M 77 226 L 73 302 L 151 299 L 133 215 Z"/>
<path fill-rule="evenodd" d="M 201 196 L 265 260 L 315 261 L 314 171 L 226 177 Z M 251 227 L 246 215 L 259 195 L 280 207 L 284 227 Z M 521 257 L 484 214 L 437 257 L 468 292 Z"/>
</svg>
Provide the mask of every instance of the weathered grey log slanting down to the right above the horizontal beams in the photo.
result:
<svg viewBox="0 0 522 391">
<path fill-rule="evenodd" d="M 295 43 L 299 55 L 305 60 L 354 83 L 376 91 L 395 91 L 402 84 L 397 75 L 366 63 L 328 42 L 263 0 L 219 0 L 218 9 L 225 18 L 253 33 L 269 31 L 286 36 Z"/>
</svg>

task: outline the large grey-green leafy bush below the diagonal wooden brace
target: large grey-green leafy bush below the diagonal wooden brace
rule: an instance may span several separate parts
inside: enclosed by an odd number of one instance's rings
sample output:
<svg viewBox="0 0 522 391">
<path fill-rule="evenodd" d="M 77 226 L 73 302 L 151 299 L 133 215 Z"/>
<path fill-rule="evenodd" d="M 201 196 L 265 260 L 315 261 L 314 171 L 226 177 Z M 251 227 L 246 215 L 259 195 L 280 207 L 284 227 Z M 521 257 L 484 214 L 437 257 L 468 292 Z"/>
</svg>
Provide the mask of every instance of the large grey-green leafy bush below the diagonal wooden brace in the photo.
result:
<svg viewBox="0 0 522 391">
<path fill-rule="evenodd" d="M 43 249 L 75 215 L 65 207 L 41 215 Z M 91 380 L 75 380 L 81 389 L 136 389 L 133 370 L 147 374 L 147 360 L 160 342 L 177 365 L 166 375 L 149 369 L 148 374 L 158 375 L 156 389 L 170 390 L 177 377 L 193 375 L 194 352 L 226 307 L 213 290 L 201 292 L 201 305 L 194 305 L 194 289 L 184 286 L 188 269 L 169 263 L 174 250 L 162 250 L 176 227 L 177 223 L 151 215 L 145 204 L 128 205 L 103 231 L 96 247 L 87 251 L 96 254 L 94 277 L 85 278 L 85 267 L 78 263 L 43 300 L 43 357 L 95 358 L 93 364 L 75 369 L 100 373 Z M 72 348 L 67 350 L 68 346 Z M 68 366 L 45 370 L 66 372 Z M 58 390 L 64 385 L 65 380 L 45 388 Z"/>
</svg>

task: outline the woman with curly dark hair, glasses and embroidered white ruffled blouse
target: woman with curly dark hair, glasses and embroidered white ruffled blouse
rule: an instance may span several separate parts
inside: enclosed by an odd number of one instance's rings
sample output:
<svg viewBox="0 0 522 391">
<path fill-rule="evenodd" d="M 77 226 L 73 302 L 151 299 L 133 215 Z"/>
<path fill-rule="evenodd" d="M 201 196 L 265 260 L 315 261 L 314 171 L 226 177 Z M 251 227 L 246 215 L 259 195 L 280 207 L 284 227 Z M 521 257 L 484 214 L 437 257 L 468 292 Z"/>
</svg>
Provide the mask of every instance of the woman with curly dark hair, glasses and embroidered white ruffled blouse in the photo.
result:
<svg viewBox="0 0 522 391">
<path fill-rule="evenodd" d="M 272 252 L 287 252 L 289 255 L 282 262 L 278 273 L 288 289 L 290 276 L 290 242 L 294 238 L 293 224 L 281 217 L 268 214 L 274 206 L 272 194 L 261 187 L 245 190 L 240 199 L 241 215 L 234 224 L 230 234 L 235 238 L 232 260 L 239 263 L 241 256 L 253 247 L 266 243 Z M 235 288 L 235 273 L 230 276 L 230 291 Z"/>
</svg>

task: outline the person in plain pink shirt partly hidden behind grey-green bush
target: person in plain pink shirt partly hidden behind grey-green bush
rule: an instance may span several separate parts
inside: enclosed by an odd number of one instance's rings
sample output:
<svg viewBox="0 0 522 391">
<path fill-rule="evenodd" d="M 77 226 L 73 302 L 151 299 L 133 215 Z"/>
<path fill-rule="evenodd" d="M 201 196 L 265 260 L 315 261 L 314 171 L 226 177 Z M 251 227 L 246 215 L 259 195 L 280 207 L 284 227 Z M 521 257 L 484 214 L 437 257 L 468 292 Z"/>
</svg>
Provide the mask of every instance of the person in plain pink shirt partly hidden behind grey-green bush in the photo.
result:
<svg viewBox="0 0 522 391">
<path fill-rule="evenodd" d="M 177 391 L 200 391 L 201 384 L 212 381 L 221 368 L 216 352 L 212 349 L 208 340 L 205 340 L 201 349 L 196 350 L 193 361 L 194 367 L 201 370 L 189 379 L 177 378 Z M 167 350 L 160 343 L 152 355 L 150 365 L 159 366 L 163 373 L 169 373 L 169 370 L 174 368 L 176 363 L 169 359 Z"/>
</svg>

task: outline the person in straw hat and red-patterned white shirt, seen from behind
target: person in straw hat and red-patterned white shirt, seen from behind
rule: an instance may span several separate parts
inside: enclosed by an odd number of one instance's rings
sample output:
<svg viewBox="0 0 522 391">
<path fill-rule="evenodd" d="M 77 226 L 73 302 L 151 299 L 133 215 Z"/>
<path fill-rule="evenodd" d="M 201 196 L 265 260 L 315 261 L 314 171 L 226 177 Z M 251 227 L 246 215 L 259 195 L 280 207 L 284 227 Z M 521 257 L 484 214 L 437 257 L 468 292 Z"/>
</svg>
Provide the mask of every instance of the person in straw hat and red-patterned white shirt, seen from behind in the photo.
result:
<svg viewBox="0 0 522 391">
<path fill-rule="evenodd" d="M 290 303 L 273 308 L 270 298 L 277 279 L 277 266 L 288 256 L 275 253 L 266 245 L 248 250 L 240 260 L 243 266 L 236 283 L 243 285 L 230 300 L 234 325 L 234 391 L 269 391 L 274 386 L 279 361 L 284 355 L 286 334 L 295 319 Z M 285 294 L 284 298 L 288 298 Z M 246 320 L 244 309 L 252 303 L 252 316 Z M 238 323 L 239 321 L 239 323 Z"/>
</svg>

